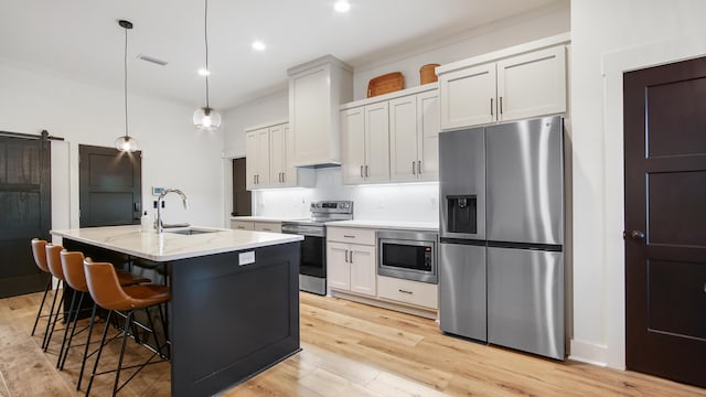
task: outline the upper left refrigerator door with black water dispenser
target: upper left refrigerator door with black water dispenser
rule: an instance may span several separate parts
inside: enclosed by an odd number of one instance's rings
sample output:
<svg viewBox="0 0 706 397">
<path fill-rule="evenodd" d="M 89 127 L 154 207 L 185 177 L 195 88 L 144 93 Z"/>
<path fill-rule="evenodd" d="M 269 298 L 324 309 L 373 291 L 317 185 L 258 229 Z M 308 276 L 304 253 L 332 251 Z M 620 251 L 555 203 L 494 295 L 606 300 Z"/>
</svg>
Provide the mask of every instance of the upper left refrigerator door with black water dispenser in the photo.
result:
<svg viewBox="0 0 706 397">
<path fill-rule="evenodd" d="M 459 206 L 452 206 L 454 201 L 457 204 L 461 203 L 460 212 L 467 211 L 466 215 L 473 217 L 466 221 L 473 224 L 474 230 L 464 230 L 463 225 L 454 228 L 453 211 L 459 210 Z M 473 201 L 474 211 L 472 211 L 471 201 Z M 485 239 L 483 128 L 439 133 L 439 237 Z"/>
</svg>

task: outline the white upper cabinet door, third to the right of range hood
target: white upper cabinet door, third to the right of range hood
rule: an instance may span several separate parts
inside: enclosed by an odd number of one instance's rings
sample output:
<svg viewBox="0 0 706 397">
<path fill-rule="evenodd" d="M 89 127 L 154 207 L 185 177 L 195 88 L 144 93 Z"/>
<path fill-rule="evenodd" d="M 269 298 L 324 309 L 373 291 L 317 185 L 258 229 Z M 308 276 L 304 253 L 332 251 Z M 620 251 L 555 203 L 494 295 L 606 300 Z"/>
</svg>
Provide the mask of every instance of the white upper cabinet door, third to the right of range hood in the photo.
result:
<svg viewBox="0 0 706 397">
<path fill-rule="evenodd" d="M 389 178 L 417 180 L 417 97 L 389 101 Z"/>
</svg>

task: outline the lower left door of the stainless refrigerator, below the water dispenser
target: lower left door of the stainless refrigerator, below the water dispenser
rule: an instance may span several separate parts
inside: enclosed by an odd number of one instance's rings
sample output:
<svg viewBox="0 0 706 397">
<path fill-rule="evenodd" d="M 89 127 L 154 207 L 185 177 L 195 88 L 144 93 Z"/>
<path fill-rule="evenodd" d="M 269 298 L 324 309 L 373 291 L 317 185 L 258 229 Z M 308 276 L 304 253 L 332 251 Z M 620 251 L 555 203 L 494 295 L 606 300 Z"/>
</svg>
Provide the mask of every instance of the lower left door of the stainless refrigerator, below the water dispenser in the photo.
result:
<svg viewBox="0 0 706 397">
<path fill-rule="evenodd" d="M 439 244 L 439 323 L 443 332 L 488 340 L 485 246 Z"/>
</svg>

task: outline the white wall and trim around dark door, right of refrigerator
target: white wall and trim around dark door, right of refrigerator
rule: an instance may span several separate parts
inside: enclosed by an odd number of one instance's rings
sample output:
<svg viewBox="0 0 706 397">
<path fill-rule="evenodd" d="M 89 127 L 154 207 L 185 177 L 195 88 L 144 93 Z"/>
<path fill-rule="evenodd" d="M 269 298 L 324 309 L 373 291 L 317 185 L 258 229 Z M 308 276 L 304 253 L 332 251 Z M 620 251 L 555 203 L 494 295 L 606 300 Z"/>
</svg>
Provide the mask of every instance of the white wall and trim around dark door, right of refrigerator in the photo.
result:
<svg viewBox="0 0 706 397">
<path fill-rule="evenodd" d="M 622 72 L 706 54 L 702 0 L 571 1 L 576 360 L 624 368 Z"/>
</svg>

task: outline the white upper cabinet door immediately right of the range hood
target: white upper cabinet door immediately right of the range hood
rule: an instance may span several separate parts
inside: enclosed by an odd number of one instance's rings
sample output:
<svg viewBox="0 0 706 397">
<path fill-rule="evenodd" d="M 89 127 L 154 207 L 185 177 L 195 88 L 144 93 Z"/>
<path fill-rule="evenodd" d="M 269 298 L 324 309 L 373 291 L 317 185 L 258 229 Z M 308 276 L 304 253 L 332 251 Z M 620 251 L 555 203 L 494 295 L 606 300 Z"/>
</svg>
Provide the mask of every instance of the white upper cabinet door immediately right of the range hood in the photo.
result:
<svg viewBox="0 0 706 397">
<path fill-rule="evenodd" d="M 343 183 L 361 183 L 365 176 L 365 115 L 363 107 L 341 111 Z"/>
</svg>

